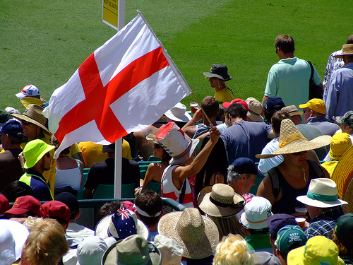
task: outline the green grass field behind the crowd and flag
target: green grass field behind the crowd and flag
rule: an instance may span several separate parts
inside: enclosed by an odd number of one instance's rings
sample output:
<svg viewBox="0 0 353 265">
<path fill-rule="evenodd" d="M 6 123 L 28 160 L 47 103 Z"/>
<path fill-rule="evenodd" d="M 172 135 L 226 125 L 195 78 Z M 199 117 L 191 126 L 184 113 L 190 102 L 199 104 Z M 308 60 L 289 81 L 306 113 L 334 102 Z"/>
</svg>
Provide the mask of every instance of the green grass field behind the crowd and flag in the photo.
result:
<svg viewBox="0 0 353 265">
<path fill-rule="evenodd" d="M 30 83 L 49 100 L 115 33 L 102 23 L 102 1 L 0 0 L 0 6 L 2 109 L 23 110 L 15 93 Z M 328 55 L 353 34 L 352 8 L 343 0 L 132 0 L 126 1 L 126 23 L 136 9 L 198 100 L 214 94 L 202 74 L 213 63 L 228 66 L 237 98 L 261 100 L 268 70 L 278 61 L 273 42 L 282 33 L 294 37 L 295 55 L 310 59 L 322 80 Z"/>
</svg>

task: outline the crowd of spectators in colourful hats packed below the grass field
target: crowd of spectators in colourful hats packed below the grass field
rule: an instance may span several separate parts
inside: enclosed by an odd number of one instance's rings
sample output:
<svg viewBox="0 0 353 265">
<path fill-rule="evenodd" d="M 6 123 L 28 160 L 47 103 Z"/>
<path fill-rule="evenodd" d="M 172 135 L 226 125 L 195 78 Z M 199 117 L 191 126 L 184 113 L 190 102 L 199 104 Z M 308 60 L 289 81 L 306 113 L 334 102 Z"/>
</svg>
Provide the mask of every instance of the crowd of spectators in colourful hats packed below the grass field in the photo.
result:
<svg viewBox="0 0 353 265">
<path fill-rule="evenodd" d="M 203 75 L 214 96 L 125 136 L 121 184 L 136 199 L 102 205 L 94 229 L 77 197 L 114 184 L 115 143 L 75 143 L 54 159 L 47 102 L 25 86 L 23 114 L 0 110 L 0 264 L 352 264 L 353 35 L 330 55 L 324 86 L 291 36 L 275 49 L 262 102 L 235 98 L 227 66 L 213 64 Z M 322 98 L 309 98 L 313 84 Z"/>
</svg>

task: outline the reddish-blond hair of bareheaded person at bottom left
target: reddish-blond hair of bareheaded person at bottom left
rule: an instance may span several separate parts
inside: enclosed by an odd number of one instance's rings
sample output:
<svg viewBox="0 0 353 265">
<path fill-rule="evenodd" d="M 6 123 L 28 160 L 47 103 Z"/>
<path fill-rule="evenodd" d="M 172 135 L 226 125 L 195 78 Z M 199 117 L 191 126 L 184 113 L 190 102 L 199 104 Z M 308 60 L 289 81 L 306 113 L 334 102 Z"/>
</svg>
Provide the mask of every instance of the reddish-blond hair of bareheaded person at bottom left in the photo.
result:
<svg viewBox="0 0 353 265">
<path fill-rule="evenodd" d="M 30 265 L 53 265 L 58 264 L 66 252 L 64 228 L 56 220 L 45 218 L 30 230 L 21 259 L 26 259 Z"/>
</svg>

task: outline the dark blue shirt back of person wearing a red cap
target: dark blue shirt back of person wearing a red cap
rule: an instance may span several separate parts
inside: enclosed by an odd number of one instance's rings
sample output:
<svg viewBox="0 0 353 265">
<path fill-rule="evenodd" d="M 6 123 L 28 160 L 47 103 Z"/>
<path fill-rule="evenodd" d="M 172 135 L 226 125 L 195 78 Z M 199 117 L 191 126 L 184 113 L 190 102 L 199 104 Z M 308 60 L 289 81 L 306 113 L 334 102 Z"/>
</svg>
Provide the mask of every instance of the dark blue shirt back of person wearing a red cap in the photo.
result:
<svg viewBox="0 0 353 265">
<path fill-rule="evenodd" d="M 242 157 L 258 162 L 255 155 L 261 153 L 268 143 L 267 136 L 271 130 L 271 126 L 264 122 L 240 121 L 222 131 L 220 137 L 227 149 L 229 165 Z"/>
</svg>

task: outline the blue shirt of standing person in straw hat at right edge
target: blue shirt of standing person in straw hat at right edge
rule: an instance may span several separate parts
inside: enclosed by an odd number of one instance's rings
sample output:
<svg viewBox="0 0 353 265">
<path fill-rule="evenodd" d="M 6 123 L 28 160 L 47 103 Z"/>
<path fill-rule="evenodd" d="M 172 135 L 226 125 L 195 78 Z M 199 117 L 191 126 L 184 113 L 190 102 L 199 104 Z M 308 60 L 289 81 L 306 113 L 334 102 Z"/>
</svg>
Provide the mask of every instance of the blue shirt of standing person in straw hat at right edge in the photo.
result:
<svg viewBox="0 0 353 265">
<path fill-rule="evenodd" d="M 334 71 L 328 86 L 326 98 L 326 118 L 343 116 L 352 110 L 353 100 L 353 63 Z"/>
</svg>

